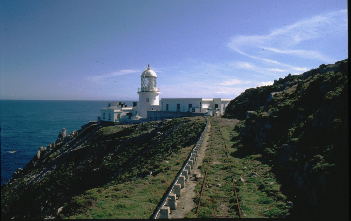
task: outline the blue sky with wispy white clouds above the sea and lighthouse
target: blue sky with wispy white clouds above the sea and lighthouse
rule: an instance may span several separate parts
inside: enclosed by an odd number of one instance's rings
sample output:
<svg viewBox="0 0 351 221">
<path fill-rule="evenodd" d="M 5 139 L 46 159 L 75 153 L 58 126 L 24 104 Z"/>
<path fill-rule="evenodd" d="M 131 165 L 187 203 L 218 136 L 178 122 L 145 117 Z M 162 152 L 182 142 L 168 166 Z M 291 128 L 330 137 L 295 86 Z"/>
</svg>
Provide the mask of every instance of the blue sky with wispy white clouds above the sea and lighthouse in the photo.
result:
<svg viewBox="0 0 351 221">
<path fill-rule="evenodd" d="M 347 1 L 0 1 L 0 98 L 230 98 L 348 57 Z"/>
</svg>

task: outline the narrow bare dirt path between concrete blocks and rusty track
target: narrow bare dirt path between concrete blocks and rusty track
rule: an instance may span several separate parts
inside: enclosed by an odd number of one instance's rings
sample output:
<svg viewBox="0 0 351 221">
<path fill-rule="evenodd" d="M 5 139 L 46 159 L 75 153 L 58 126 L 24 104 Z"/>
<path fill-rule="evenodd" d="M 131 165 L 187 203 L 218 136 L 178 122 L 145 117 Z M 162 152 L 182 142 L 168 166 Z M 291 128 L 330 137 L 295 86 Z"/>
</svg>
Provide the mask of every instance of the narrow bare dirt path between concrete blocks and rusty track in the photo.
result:
<svg viewBox="0 0 351 221">
<path fill-rule="evenodd" d="M 210 128 L 211 128 L 211 123 L 208 122 L 208 128 L 207 132 L 204 137 L 204 141 L 201 145 L 200 148 L 200 153 L 197 157 L 196 165 L 195 167 L 191 170 L 191 173 L 194 174 L 200 174 L 200 170 L 198 167 L 203 163 L 203 159 L 205 156 L 205 151 L 207 149 L 207 144 L 208 144 L 208 138 L 210 137 Z M 190 176 L 192 176 L 192 174 Z M 204 174 L 201 174 L 204 176 Z M 196 196 L 196 193 L 194 192 L 195 187 L 196 187 L 197 182 L 188 180 L 185 184 L 185 188 L 181 189 L 181 197 L 177 200 L 177 209 L 176 210 L 171 210 L 170 218 L 184 218 L 185 214 L 192 210 L 194 207 L 197 205 L 193 201 L 193 197 Z"/>
</svg>

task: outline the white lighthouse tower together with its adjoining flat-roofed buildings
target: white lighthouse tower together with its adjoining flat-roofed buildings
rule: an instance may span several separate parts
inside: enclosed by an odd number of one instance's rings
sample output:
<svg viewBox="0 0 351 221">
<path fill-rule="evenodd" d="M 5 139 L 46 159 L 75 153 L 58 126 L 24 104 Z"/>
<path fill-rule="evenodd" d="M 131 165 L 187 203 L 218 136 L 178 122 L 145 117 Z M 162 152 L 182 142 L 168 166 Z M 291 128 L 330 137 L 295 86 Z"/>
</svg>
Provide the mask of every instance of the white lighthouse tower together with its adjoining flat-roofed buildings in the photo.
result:
<svg viewBox="0 0 351 221">
<path fill-rule="evenodd" d="M 148 111 L 159 111 L 152 114 L 159 118 L 166 116 L 167 118 L 172 118 L 173 115 L 174 117 L 191 116 L 191 113 L 219 116 L 224 113 L 226 106 L 230 102 L 230 99 L 221 98 L 162 98 L 160 102 L 160 89 L 156 84 L 157 74 L 151 69 L 150 65 L 146 67 L 140 77 L 141 86 L 138 88 L 138 105 L 136 102 L 133 103 L 133 107 L 127 107 L 121 103 L 107 103 L 108 107 L 101 109 L 101 116 L 100 118 L 98 117 L 99 123 L 140 123 L 151 121 L 151 117 L 148 117 Z"/>
</svg>

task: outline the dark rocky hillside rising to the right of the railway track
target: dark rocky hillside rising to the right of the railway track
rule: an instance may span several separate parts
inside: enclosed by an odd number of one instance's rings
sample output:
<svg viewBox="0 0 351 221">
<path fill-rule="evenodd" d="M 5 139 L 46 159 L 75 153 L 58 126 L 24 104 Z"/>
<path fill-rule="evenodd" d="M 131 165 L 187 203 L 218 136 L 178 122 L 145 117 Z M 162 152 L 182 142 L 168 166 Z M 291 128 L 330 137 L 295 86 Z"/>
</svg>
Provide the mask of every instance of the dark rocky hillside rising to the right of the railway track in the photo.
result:
<svg viewBox="0 0 351 221">
<path fill-rule="evenodd" d="M 292 216 L 348 214 L 348 59 L 247 89 L 224 117 L 236 125 L 238 151 L 262 154 L 294 203 Z"/>
</svg>

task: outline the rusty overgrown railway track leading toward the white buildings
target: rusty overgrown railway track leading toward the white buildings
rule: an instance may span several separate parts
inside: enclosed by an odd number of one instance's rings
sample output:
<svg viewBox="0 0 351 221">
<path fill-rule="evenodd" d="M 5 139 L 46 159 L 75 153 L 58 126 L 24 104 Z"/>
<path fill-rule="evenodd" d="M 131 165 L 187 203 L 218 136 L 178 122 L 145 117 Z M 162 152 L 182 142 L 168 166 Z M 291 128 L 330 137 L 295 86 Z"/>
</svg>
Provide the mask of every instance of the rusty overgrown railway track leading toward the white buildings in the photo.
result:
<svg viewBox="0 0 351 221">
<path fill-rule="evenodd" d="M 214 173 L 211 173 L 210 170 L 213 169 L 212 168 L 212 167 L 214 167 L 213 165 L 216 165 L 216 164 L 217 165 L 224 164 L 225 165 L 224 168 L 229 167 L 229 169 L 230 169 L 230 175 L 231 175 L 231 181 L 232 181 L 232 188 L 231 189 L 232 189 L 232 193 L 235 196 L 236 204 L 237 204 L 237 209 L 235 209 L 235 210 L 237 212 L 237 216 L 239 218 L 242 218 L 239 198 L 238 198 L 237 190 L 235 188 L 235 182 L 234 182 L 233 171 L 232 171 L 232 167 L 231 167 L 231 161 L 230 161 L 230 157 L 228 155 L 225 139 L 224 139 L 223 134 L 221 133 L 218 125 L 217 126 L 212 125 L 210 130 L 211 130 L 210 131 L 211 143 L 210 143 L 210 148 L 209 148 L 209 155 L 208 155 L 209 157 L 207 159 L 207 165 L 206 165 L 206 171 L 205 171 L 203 185 L 202 185 L 201 190 L 200 190 L 199 202 L 198 202 L 197 210 L 196 210 L 196 218 L 199 218 L 201 203 L 203 202 L 204 204 L 206 204 L 206 202 L 204 202 L 206 200 L 212 202 L 213 204 L 216 204 L 217 206 L 218 206 L 218 204 L 221 203 L 221 205 L 218 207 L 222 207 L 221 209 L 219 209 L 219 210 L 221 210 L 219 212 L 220 214 L 211 214 L 211 215 L 209 215 L 210 217 L 212 217 L 212 218 L 233 218 L 233 216 L 228 214 L 228 208 L 229 208 L 229 206 L 228 206 L 229 200 L 228 199 L 230 197 L 223 197 L 223 196 L 221 196 L 221 197 L 216 197 L 216 196 L 204 197 L 204 190 L 205 190 L 205 188 L 208 189 L 208 187 L 209 187 L 209 185 L 206 185 L 206 181 L 207 180 L 213 181 Z M 215 132 L 218 136 L 214 136 Z M 214 143 L 214 141 L 216 141 L 216 143 Z M 220 142 L 223 142 L 224 146 L 217 145 Z M 221 155 L 223 156 L 223 152 L 225 153 L 225 157 L 227 160 L 223 160 L 223 158 L 221 157 Z M 217 162 L 218 160 L 221 160 L 223 162 Z M 219 179 L 218 177 L 214 178 L 214 180 L 218 180 L 218 179 Z M 222 182 L 224 182 L 224 181 L 222 180 Z M 217 184 L 217 186 L 218 186 L 218 184 Z M 209 191 L 209 193 L 211 194 L 212 192 Z M 207 198 L 207 199 L 205 199 L 205 198 Z M 225 210 L 227 210 L 227 212 Z"/>
</svg>

